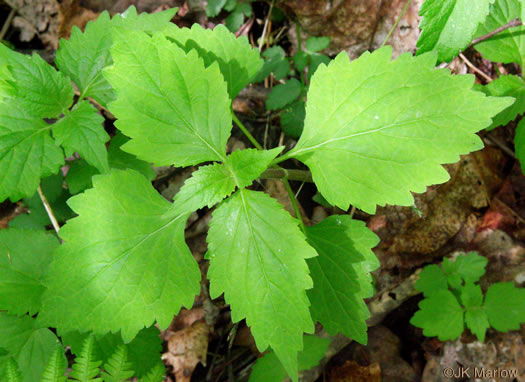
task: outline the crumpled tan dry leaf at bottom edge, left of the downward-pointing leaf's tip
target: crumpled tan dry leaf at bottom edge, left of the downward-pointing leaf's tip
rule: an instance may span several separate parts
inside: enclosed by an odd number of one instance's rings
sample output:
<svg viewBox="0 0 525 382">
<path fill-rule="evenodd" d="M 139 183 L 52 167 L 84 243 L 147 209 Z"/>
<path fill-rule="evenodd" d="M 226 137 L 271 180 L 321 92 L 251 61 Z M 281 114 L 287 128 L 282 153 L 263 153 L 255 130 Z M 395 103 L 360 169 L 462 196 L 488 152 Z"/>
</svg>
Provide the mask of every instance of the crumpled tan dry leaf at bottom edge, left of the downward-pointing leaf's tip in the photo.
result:
<svg viewBox="0 0 525 382">
<path fill-rule="evenodd" d="M 174 332 L 168 338 L 168 352 L 162 359 L 173 367 L 177 382 L 190 382 L 199 362 L 206 365 L 210 327 L 204 322 Z"/>
</svg>

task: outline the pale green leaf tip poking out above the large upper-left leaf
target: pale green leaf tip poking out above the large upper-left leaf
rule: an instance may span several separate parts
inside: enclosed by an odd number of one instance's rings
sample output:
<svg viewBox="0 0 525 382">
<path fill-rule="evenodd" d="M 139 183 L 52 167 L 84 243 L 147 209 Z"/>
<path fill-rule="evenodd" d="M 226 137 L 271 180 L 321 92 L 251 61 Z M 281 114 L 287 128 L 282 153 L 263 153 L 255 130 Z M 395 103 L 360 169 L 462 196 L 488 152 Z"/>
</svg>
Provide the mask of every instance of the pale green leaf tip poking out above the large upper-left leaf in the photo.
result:
<svg viewBox="0 0 525 382">
<path fill-rule="evenodd" d="M 122 15 L 115 15 L 111 20 L 112 24 L 117 27 L 123 27 L 130 30 L 143 31 L 147 33 L 160 32 L 170 25 L 171 19 L 177 13 L 177 8 L 167 9 L 156 13 L 137 13 L 137 8 L 131 5 Z M 119 35 L 119 37 L 123 37 Z M 113 35 L 115 38 L 115 35 Z"/>
</svg>

